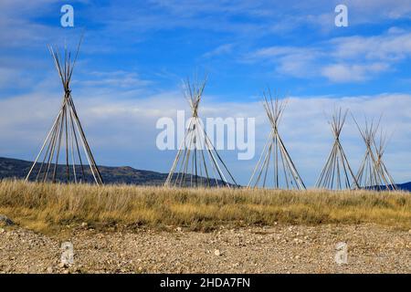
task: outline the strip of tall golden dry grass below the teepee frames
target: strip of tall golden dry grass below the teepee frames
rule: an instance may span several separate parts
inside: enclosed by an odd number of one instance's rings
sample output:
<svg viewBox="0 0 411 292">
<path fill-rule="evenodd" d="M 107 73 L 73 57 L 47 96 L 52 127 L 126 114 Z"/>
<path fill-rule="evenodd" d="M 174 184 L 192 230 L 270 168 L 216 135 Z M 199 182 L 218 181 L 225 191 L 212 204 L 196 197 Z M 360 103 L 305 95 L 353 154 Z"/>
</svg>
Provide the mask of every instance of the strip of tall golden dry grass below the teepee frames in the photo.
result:
<svg viewBox="0 0 411 292">
<path fill-rule="evenodd" d="M 410 193 L 177 189 L 0 182 L 0 214 L 39 231 L 67 224 L 186 226 L 207 230 L 284 224 L 387 224 L 411 228 Z"/>
</svg>

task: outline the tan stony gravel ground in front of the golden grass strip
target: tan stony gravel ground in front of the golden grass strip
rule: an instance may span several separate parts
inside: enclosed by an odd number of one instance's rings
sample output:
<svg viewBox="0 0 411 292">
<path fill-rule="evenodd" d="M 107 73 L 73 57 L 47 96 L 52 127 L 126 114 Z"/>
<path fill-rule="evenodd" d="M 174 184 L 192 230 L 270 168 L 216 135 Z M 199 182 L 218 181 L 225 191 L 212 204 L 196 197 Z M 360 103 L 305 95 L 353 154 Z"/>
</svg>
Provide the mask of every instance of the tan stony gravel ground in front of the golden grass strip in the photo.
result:
<svg viewBox="0 0 411 292">
<path fill-rule="evenodd" d="M 0 227 L 0 273 L 411 273 L 411 231 L 373 224 L 251 227 L 211 233 L 96 231 L 68 236 L 73 266 L 56 236 Z M 337 265 L 335 245 L 348 245 Z"/>
</svg>

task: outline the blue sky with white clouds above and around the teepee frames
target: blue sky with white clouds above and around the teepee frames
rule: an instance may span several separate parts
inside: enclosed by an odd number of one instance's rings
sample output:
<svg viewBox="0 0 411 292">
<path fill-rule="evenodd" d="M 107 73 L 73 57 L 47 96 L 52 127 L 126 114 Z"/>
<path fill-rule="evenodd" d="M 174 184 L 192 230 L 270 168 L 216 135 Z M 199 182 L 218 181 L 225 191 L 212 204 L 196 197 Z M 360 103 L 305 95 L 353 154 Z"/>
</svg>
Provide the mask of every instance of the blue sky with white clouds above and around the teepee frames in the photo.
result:
<svg viewBox="0 0 411 292">
<path fill-rule="evenodd" d="M 74 28 L 59 24 L 64 4 Z M 334 26 L 338 4 L 348 27 Z M 73 98 L 101 164 L 167 172 L 175 152 L 156 149 L 155 120 L 187 110 L 181 79 L 199 71 L 204 116 L 257 119 L 256 157 L 269 130 L 261 90 L 290 96 L 280 130 L 308 185 L 331 147 L 324 113 L 335 106 L 384 112 L 388 167 L 411 180 L 410 1 L 5 0 L 0 25 L 0 156 L 34 158 L 61 94 L 47 44 L 74 48 L 85 30 Z M 364 149 L 351 121 L 343 134 L 355 168 Z M 247 183 L 256 160 L 224 154 Z"/>
</svg>

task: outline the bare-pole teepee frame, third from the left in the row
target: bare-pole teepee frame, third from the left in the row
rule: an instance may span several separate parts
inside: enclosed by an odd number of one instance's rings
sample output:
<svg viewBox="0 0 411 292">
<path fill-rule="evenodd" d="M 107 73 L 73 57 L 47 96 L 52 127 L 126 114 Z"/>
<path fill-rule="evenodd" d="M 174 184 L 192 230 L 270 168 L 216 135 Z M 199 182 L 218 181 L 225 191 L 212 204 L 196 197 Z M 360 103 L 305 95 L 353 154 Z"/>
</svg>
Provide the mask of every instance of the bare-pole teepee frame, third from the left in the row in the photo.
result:
<svg viewBox="0 0 411 292">
<path fill-rule="evenodd" d="M 254 168 L 248 187 L 266 187 L 271 181 L 275 189 L 305 190 L 305 185 L 300 178 L 294 162 L 290 158 L 281 137 L 279 136 L 279 120 L 286 106 L 286 101 L 273 101 L 271 92 L 263 92 L 263 107 L 269 117 L 271 130 L 269 138 Z M 269 175 L 269 182 L 268 182 Z"/>
</svg>

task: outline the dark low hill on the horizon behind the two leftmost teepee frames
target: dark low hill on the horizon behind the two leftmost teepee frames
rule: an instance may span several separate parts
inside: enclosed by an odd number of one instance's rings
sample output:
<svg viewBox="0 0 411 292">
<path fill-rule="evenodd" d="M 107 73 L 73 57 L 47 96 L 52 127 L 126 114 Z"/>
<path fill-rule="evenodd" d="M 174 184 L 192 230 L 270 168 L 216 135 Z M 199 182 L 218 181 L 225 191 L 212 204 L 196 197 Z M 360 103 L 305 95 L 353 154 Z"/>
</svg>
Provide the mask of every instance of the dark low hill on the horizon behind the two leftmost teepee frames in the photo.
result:
<svg viewBox="0 0 411 292">
<path fill-rule="evenodd" d="M 33 162 L 0 157 L 0 180 L 5 178 L 25 179 L 32 165 Z M 52 167 L 54 167 L 54 164 Z M 77 172 L 80 173 L 80 167 L 77 166 L 76 169 Z M 35 169 L 33 173 L 37 173 L 36 170 L 38 170 L 38 168 Z M 109 167 L 99 165 L 99 170 L 104 183 L 163 185 L 168 175 L 167 173 L 136 170 L 129 166 Z M 57 180 L 65 181 L 65 171 L 65 166 L 58 165 Z M 90 168 L 86 167 L 84 172 L 87 182 L 93 182 Z M 187 184 L 189 184 L 190 179 L 190 177 L 186 178 Z M 218 183 L 222 184 L 220 180 L 218 180 Z M 212 186 L 216 185 L 215 182 L 210 182 L 210 184 Z"/>
</svg>

